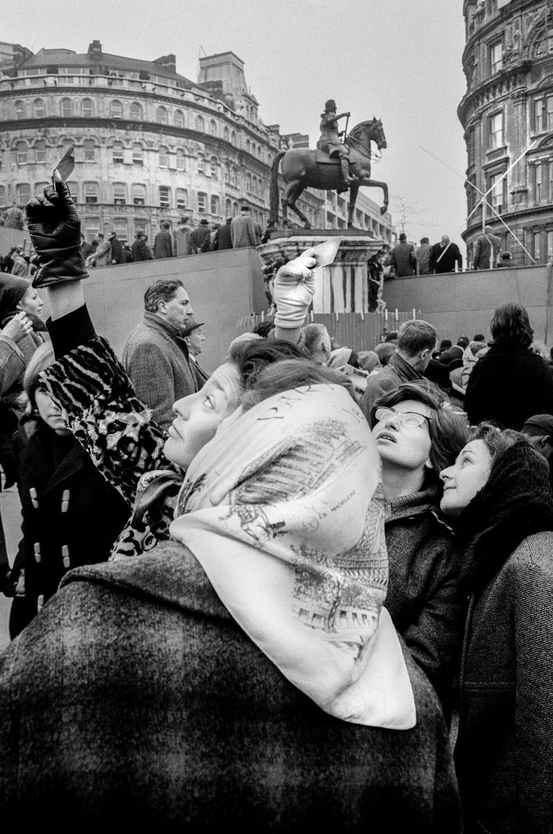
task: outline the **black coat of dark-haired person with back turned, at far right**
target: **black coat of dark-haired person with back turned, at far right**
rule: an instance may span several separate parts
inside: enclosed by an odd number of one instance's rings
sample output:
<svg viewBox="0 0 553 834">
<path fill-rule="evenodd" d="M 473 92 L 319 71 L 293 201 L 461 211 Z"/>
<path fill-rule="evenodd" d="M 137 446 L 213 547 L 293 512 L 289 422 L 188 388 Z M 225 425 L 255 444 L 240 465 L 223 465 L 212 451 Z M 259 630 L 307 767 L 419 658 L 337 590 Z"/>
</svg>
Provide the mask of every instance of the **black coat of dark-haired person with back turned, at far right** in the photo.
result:
<svg viewBox="0 0 553 834">
<path fill-rule="evenodd" d="M 543 357 L 518 345 L 492 344 L 465 391 L 470 423 L 495 420 L 520 431 L 532 414 L 553 414 L 553 375 Z"/>
</svg>

